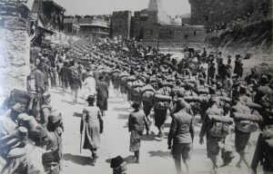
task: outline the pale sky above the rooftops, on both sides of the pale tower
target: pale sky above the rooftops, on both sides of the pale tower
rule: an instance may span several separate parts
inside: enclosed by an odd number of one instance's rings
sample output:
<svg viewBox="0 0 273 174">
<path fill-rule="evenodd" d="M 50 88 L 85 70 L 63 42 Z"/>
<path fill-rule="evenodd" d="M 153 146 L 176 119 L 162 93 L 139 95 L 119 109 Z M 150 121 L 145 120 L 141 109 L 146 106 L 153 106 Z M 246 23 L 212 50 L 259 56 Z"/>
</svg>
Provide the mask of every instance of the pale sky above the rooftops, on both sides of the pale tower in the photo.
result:
<svg viewBox="0 0 273 174">
<path fill-rule="evenodd" d="M 54 0 L 66 8 L 66 14 L 112 14 L 114 11 L 139 11 L 147 8 L 149 0 Z M 167 14 L 187 14 L 190 12 L 188 0 L 162 0 Z"/>
</svg>

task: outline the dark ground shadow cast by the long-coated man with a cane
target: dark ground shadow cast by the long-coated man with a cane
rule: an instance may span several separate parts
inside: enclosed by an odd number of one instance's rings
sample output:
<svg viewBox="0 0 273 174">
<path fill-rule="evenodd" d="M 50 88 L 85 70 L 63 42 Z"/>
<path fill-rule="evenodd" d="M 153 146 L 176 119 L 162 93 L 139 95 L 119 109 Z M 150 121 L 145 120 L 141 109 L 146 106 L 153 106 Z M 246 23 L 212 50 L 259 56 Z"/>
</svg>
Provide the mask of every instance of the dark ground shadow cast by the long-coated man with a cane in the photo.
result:
<svg viewBox="0 0 273 174">
<path fill-rule="evenodd" d="M 64 160 L 69 160 L 81 166 L 95 166 L 90 157 L 84 157 L 79 155 L 72 155 L 70 153 L 64 154 Z"/>
</svg>

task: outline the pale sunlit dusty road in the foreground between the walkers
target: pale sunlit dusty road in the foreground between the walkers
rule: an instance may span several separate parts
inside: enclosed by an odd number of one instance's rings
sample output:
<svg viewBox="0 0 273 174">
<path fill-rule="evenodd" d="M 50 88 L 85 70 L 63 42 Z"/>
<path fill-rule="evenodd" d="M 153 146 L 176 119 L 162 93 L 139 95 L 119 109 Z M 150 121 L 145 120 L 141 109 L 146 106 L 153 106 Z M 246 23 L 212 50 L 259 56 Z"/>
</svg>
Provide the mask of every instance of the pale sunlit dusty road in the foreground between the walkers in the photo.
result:
<svg viewBox="0 0 273 174">
<path fill-rule="evenodd" d="M 81 94 L 81 93 L 80 93 Z M 133 163 L 132 155 L 129 152 L 129 137 L 127 129 L 127 111 L 129 105 L 122 104 L 121 98 L 114 96 L 113 89 L 110 88 L 110 99 L 108 101 L 109 108 L 104 117 L 105 129 L 101 136 L 101 149 L 98 150 L 99 159 L 96 165 L 90 162 L 90 151 L 83 150 L 80 154 L 80 133 L 79 125 L 81 112 L 86 106 L 86 102 L 80 99 L 78 104 L 72 105 L 70 94 L 63 95 L 60 89 L 52 91 L 52 105 L 63 113 L 65 123 L 64 133 L 64 173 L 66 174 L 106 174 L 112 173 L 110 169 L 111 158 L 117 155 L 122 156 L 128 163 L 130 174 L 151 173 L 151 174 L 175 174 L 175 164 L 167 150 L 167 136 L 163 139 L 157 139 L 157 129 L 154 125 L 151 128 L 151 134 L 144 136 L 140 151 L 140 164 Z M 165 134 L 167 135 L 170 126 L 170 119 L 166 122 Z M 198 133 L 200 125 L 196 124 L 196 138 L 194 142 L 194 151 L 192 154 L 192 166 L 194 173 L 209 173 L 211 169 L 210 161 L 206 156 L 206 142 L 204 145 L 198 143 Z M 253 151 L 255 148 L 258 133 L 251 135 L 248 143 L 247 155 L 248 162 L 251 162 Z M 227 137 L 227 141 L 234 144 L 234 135 L 232 138 Z M 220 173 L 248 173 L 246 166 L 242 165 L 242 169 L 235 167 L 238 161 L 236 159 L 225 168 L 220 169 Z M 221 164 L 221 161 L 219 161 Z M 185 168 L 184 168 L 185 170 Z"/>
</svg>

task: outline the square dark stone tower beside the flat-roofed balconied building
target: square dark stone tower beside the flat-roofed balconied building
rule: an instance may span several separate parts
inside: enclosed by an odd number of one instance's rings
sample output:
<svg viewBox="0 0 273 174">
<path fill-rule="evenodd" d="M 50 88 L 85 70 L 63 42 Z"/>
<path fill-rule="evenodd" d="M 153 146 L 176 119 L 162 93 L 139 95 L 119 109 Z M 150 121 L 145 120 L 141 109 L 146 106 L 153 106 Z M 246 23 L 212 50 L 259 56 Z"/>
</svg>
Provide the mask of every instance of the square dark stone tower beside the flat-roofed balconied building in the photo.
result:
<svg viewBox="0 0 273 174">
<path fill-rule="evenodd" d="M 111 32 L 112 37 L 119 40 L 129 39 L 131 36 L 132 12 L 120 11 L 112 15 Z"/>
</svg>

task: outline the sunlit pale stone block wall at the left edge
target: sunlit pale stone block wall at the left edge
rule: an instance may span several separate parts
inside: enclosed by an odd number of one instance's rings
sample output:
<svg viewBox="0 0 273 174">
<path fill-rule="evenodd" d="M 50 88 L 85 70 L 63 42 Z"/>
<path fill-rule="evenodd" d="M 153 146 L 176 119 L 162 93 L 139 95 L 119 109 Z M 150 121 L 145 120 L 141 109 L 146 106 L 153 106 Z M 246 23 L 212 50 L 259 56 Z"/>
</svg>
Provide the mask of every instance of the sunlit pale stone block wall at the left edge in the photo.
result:
<svg viewBox="0 0 273 174">
<path fill-rule="evenodd" d="M 25 21 L 16 16 L 2 16 L 0 26 L 0 100 L 13 89 L 26 91 L 29 72 L 30 41 Z"/>
</svg>

